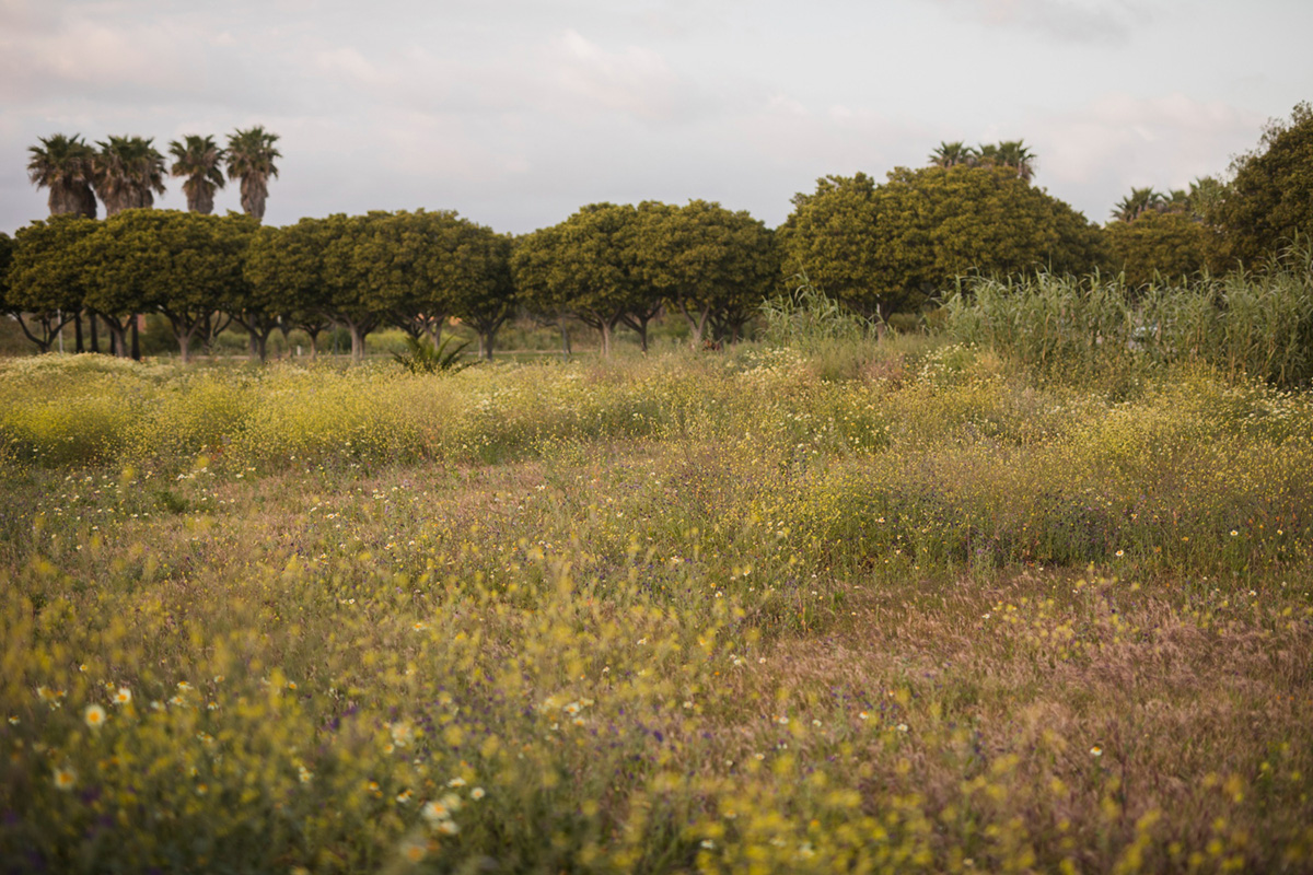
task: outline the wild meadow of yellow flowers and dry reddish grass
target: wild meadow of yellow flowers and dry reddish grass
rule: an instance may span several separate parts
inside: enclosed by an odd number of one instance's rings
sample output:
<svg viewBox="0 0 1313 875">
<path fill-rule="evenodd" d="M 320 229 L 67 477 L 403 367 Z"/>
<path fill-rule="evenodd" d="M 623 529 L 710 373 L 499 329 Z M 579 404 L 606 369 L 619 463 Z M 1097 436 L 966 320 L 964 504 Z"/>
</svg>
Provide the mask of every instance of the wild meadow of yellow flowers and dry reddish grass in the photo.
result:
<svg viewBox="0 0 1313 875">
<path fill-rule="evenodd" d="M 1313 397 L 0 363 L 0 870 L 1313 870 Z"/>
</svg>

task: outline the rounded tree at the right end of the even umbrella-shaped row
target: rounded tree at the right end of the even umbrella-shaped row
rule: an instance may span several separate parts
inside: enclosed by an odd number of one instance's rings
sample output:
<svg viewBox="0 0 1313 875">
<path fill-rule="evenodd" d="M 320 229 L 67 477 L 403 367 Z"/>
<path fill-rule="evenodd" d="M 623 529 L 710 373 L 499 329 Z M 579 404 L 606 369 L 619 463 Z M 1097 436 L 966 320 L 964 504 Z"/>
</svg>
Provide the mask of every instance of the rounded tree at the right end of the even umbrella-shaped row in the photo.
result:
<svg viewBox="0 0 1313 875">
<path fill-rule="evenodd" d="M 693 349 L 708 325 L 735 333 L 780 279 L 773 235 L 747 213 L 649 201 L 638 216 L 639 275 L 683 314 Z"/>
</svg>

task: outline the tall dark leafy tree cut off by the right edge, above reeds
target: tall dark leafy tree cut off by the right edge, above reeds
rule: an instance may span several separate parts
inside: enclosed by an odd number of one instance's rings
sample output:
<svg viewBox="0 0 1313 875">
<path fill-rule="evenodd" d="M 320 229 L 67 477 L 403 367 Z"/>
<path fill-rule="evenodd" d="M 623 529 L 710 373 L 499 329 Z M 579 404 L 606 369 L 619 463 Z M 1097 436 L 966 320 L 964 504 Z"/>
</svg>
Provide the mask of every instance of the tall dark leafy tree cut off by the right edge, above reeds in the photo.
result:
<svg viewBox="0 0 1313 875">
<path fill-rule="evenodd" d="M 1262 261 L 1296 235 L 1313 237 L 1313 105 L 1297 104 L 1289 122 L 1268 122 L 1258 148 L 1237 157 L 1232 172 L 1207 216 L 1220 231 L 1215 269 Z"/>
</svg>

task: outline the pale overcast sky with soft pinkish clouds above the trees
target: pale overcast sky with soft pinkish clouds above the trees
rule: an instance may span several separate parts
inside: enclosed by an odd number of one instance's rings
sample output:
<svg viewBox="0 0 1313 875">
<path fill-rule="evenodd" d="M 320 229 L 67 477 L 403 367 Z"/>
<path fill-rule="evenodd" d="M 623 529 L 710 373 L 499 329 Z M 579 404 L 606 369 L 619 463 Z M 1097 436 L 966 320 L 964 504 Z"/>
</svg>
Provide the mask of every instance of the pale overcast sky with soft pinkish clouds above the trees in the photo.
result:
<svg viewBox="0 0 1313 875">
<path fill-rule="evenodd" d="M 0 231 L 47 214 L 28 147 L 263 125 L 265 223 L 586 203 L 777 226 L 818 177 L 1024 139 L 1095 222 L 1224 174 L 1313 100 L 1309 0 L 0 0 Z M 238 210 L 236 184 L 215 211 Z M 181 180 L 156 206 L 185 209 Z"/>
</svg>

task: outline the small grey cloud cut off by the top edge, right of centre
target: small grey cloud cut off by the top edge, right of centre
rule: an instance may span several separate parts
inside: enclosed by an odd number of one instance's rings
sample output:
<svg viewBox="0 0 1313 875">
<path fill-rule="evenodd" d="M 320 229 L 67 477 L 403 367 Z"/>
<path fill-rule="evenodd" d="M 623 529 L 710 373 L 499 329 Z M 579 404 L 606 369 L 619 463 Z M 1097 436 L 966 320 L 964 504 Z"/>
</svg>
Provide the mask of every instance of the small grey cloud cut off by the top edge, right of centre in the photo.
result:
<svg viewBox="0 0 1313 875">
<path fill-rule="evenodd" d="M 1142 8 L 1091 0 L 939 0 L 995 28 L 1019 28 L 1077 43 L 1128 43 Z"/>
</svg>

